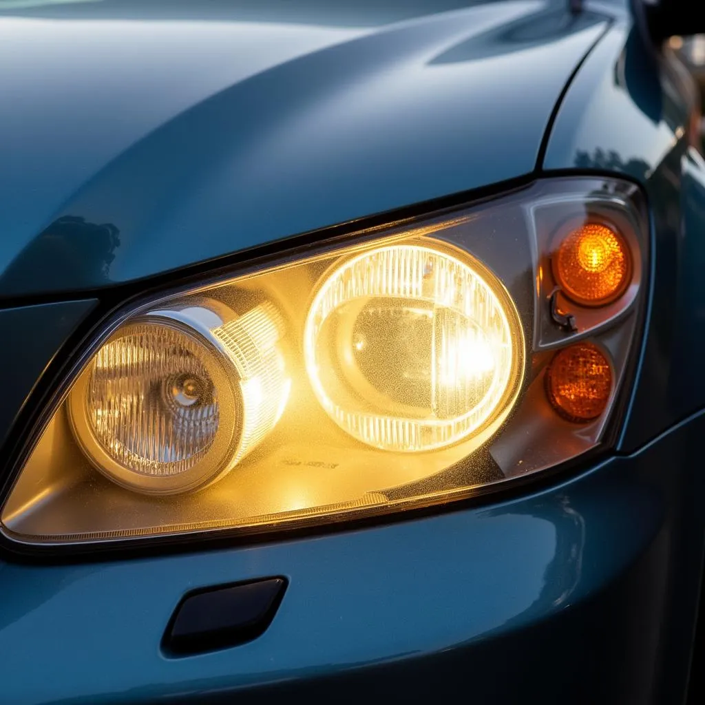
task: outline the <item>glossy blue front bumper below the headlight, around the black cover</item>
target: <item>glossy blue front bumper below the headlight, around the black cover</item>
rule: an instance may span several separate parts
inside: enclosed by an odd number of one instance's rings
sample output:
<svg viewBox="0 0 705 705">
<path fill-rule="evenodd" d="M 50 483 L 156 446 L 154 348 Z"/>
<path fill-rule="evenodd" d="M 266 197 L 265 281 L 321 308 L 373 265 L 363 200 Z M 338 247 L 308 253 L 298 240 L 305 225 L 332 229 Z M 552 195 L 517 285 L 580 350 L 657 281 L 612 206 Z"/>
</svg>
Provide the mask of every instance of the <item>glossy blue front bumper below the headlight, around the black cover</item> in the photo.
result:
<svg viewBox="0 0 705 705">
<path fill-rule="evenodd" d="M 534 494 L 246 548 L 0 563 L 0 702 L 678 703 L 703 558 L 705 414 Z M 530 488 L 529 488 L 530 489 Z M 195 587 L 286 575 L 259 639 L 166 658 Z"/>
</svg>

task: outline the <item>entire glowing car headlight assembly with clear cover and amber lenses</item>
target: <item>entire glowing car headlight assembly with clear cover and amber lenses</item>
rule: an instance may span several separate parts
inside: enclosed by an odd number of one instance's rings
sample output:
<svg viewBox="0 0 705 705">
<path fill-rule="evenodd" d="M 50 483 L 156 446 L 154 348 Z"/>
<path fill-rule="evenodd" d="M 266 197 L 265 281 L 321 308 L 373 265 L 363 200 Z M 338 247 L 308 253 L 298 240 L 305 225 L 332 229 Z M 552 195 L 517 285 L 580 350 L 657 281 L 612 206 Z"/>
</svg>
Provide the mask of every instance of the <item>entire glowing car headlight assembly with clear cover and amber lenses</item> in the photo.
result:
<svg viewBox="0 0 705 705">
<path fill-rule="evenodd" d="M 138 302 L 57 387 L 1 530 L 85 544 L 340 522 L 606 446 L 646 223 L 634 185 L 544 180 Z"/>
</svg>

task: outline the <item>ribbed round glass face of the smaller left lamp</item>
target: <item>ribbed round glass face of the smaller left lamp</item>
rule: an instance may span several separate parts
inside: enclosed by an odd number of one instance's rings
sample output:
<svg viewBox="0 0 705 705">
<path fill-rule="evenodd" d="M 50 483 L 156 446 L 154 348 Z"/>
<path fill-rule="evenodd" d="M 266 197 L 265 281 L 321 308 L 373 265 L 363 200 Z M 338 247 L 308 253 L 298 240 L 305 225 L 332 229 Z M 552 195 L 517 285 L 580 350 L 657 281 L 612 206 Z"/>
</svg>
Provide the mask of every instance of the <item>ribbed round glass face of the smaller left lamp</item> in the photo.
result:
<svg viewBox="0 0 705 705">
<path fill-rule="evenodd" d="M 137 324 L 96 354 L 87 384 L 87 418 L 116 462 L 168 476 L 208 452 L 219 422 L 202 345 L 176 329 Z"/>
</svg>

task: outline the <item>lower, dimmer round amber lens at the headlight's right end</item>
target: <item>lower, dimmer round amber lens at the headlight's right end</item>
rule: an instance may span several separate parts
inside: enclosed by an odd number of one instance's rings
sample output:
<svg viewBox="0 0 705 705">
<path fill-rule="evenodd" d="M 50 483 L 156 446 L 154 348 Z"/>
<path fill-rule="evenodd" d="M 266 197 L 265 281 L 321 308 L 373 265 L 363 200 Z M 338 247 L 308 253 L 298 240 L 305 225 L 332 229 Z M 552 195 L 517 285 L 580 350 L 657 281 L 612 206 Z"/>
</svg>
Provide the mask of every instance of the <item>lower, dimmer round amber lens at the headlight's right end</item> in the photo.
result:
<svg viewBox="0 0 705 705">
<path fill-rule="evenodd" d="M 546 370 L 546 393 L 553 408 L 575 422 L 596 419 L 606 409 L 612 391 L 612 368 L 591 343 L 560 350 Z"/>
</svg>

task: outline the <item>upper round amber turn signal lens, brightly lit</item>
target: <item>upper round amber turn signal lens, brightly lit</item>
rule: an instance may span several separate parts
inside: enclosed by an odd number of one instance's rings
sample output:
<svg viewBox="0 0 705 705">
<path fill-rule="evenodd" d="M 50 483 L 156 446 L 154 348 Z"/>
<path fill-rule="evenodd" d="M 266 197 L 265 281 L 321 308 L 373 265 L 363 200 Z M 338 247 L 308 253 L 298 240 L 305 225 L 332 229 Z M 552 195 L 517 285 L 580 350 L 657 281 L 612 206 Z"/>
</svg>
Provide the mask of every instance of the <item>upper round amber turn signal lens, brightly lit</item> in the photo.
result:
<svg viewBox="0 0 705 705">
<path fill-rule="evenodd" d="M 563 293 L 584 306 L 603 306 L 619 298 L 631 268 L 624 238 L 601 223 L 576 228 L 553 257 L 553 274 Z"/>
</svg>

